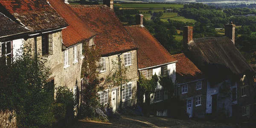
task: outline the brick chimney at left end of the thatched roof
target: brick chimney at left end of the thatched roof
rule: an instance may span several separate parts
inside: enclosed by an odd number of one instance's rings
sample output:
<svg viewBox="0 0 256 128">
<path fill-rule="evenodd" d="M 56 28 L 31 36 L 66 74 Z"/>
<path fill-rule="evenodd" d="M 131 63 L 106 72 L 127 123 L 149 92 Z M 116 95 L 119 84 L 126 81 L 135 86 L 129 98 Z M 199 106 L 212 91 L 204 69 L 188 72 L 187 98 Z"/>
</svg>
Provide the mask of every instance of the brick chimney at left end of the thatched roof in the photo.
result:
<svg viewBox="0 0 256 128">
<path fill-rule="evenodd" d="M 183 46 L 186 47 L 193 40 L 193 27 L 183 26 Z"/>
</svg>

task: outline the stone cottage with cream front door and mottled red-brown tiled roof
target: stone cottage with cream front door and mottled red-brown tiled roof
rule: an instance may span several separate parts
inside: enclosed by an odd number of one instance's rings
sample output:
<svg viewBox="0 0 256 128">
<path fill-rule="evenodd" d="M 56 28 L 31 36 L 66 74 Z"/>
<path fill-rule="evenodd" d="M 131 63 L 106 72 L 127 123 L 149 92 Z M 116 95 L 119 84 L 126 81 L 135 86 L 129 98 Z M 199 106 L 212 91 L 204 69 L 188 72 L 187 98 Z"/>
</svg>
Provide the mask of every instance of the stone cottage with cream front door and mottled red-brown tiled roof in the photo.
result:
<svg viewBox="0 0 256 128">
<path fill-rule="evenodd" d="M 113 1 L 110 3 L 113 7 Z M 99 92 L 102 104 L 109 103 L 113 110 L 135 105 L 137 101 L 137 46 L 116 17 L 113 8 L 106 5 L 73 5 L 73 10 L 98 34 L 94 38 L 96 49 L 100 50 L 99 77 L 106 78 L 113 70 L 112 61 L 122 61 L 121 68 L 127 67 L 128 83 L 113 87 L 108 85 Z"/>
</svg>

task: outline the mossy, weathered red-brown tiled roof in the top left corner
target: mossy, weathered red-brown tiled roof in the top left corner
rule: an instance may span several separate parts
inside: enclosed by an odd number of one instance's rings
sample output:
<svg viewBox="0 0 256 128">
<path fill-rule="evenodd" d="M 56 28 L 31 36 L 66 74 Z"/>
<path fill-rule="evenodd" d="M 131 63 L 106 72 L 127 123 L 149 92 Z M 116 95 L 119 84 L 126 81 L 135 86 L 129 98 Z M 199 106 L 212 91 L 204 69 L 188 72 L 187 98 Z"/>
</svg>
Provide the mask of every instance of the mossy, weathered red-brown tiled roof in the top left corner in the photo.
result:
<svg viewBox="0 0 256 128">
<path fill-rule="evenodd" d="M 0 0 L 4 8 L 17 21 L 32 31 L 67 26 L 65 20 L 52 9 L 46 0 Z"/>
</svg>

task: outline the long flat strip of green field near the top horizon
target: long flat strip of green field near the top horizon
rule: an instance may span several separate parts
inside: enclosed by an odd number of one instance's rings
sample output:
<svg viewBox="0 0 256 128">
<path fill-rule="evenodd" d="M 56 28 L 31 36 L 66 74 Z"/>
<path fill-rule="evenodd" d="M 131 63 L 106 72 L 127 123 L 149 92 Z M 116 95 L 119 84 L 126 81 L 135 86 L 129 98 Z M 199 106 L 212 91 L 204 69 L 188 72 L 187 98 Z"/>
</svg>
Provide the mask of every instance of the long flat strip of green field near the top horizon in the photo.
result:
<svg viewBox="0 0 256 128">
<path fill-rule="evenodd" d="M 160 3 L 115 3 L 114 7 L 120 8 L 183 8 L 182 4 L 160 4 Z"/>
</svg>

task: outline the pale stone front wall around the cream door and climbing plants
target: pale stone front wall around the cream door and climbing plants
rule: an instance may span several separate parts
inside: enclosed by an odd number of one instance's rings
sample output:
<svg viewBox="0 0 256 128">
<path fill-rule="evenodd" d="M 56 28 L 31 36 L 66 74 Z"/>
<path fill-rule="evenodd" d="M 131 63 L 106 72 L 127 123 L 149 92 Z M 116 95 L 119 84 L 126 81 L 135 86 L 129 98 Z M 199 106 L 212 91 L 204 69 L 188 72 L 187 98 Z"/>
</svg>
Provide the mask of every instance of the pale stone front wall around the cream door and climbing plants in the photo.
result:
<svg viewBox="0 0 256 128">
<path fill-rule="evenodd" d="M 138 75 L 137 75 L 137 51 L 136 50 L 132 50 L 129 51 L 131 52 L 131 63 L 132 65 L 127 66 L 127 72 L 126 72 L 126 77 L 127 79 L 130 80 L 130 82 L 132 82 L 132 98 L 126 101 L 122 101 L 122 97 L 121 97 L 121 87 L 113 87 L 111 86 L 111 88 L 106 87 L 106 89 L 109 89 L 108 91 L 108 102 L 111 105 L 111 99 L 112 99 L 112 90 L 113 89 L 117 89 L 117 93 L 118 93 L 118 105 L 117 105 L 117 109 L 120 105 L 120 102 L 122 102 L 122 108 L 126 107 L 126 106 L 131 106 L 131 105 L 135 105 L 136 101 L 137 101 L 137 80 L 138 80 Z M 106 66 L 106 71 L 102 72 L 99 74 L 99 78 L 106 78 L 109 74 L 110 71 L 113 69 L 113 65 L 111 63 L 111 61 L 116 61 L 117 62 L 118 59 L 118 55 L 110 55 L 110 56 L 106 56 L 105 57 L 105 66 Z M 120 60 L 122 61 L 121 66 L 124 68 L 124 53 L 120 54 Z"/>
</svg>

